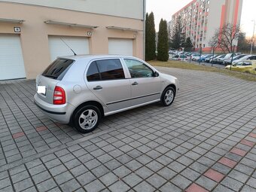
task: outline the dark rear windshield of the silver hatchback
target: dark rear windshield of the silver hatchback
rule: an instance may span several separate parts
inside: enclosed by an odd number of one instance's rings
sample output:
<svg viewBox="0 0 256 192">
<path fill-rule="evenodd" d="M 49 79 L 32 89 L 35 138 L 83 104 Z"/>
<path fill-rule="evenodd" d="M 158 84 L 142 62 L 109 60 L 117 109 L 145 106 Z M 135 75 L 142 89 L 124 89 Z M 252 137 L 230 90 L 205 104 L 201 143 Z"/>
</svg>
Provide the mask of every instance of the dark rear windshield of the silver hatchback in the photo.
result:
<svg viewBox="0 0 256 192">
<path fill-rule="evenodd" d="M 47 69 L 44 70 L 42 75 L 47 78 L 62 80 L 73 62 L 74 60 L 72 59 L 56 59 L 47 67 Z"/>
</svg>

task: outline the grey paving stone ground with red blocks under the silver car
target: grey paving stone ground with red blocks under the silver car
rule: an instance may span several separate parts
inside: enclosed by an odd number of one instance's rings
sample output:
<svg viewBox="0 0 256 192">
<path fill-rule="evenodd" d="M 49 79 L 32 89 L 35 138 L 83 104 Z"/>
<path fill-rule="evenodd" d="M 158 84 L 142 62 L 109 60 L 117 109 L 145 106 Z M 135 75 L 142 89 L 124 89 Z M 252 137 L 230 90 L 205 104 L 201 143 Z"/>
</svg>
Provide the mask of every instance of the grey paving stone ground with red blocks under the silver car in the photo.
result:
<svg viewBox="0 0 256 192">
<path fill-rule="evenodd" d="M 256 191 L 256 84 L 159 68 L 181 90 L 82 135 L 33 104 L 35 81 L 0 81 L 0 191 Z"/>
</svg>

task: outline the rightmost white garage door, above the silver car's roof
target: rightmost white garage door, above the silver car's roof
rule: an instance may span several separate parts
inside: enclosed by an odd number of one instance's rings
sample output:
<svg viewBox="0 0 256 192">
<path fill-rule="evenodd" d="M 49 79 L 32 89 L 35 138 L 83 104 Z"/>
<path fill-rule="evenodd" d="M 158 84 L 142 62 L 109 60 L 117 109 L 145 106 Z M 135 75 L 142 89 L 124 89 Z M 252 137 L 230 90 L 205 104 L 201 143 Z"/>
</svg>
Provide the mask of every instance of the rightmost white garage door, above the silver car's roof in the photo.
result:
<svg viewBox="0 0 256 192">
<path fill-rule="evenodd" d="M 133 39 L 108 38 L 108 54 L 133 56 Z"/>
</svg>

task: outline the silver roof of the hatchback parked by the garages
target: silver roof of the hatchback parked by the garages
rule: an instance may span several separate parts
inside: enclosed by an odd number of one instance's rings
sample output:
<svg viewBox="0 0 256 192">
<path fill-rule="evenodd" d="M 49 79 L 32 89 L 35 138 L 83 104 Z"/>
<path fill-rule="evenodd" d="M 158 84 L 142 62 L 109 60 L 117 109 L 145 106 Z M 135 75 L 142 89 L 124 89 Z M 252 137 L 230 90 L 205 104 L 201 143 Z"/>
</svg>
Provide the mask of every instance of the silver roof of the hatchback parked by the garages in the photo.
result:
<svg viewBox="0 0 256 192">
<path fill-rule="evenodd" d="M 63 59 L 73 59 L 73 60 L 80 60 L 80 59 L 104 59 L 104 58 L 133 58 L 137 59 L 134 56 L 125 56 L 125 55 L 72 55 L 72 56 L 58 56 L 57 58 Z"/>
</svg>

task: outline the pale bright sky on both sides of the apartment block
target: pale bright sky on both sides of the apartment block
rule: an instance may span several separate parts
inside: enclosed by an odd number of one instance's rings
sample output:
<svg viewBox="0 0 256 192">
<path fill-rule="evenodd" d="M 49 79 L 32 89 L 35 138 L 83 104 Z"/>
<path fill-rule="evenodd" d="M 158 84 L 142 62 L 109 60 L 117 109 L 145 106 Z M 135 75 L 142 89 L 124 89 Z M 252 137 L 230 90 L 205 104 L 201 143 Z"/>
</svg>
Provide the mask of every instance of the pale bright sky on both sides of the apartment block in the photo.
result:
<svg viewBox="0 0 256 192">
<path fill-rule="evenodd" d="M 167 21 L 171 20 L 172 14 L 175 14 L 175 12 L 183 8 L 191 1 L 192 0 L 147 0 L 146 9 L 148 13 L 151 13 L 151 11 L 153 11 L 156 30 L 158 31 L 161 18 Z M 242 32 L 246 32 L 247 37 L 252 36 L 254 22 L 252 22 L 251 20 L 256 20 L 255 8 L 256 0 L 243 0 L 241 28 Z"/>
</svg>

